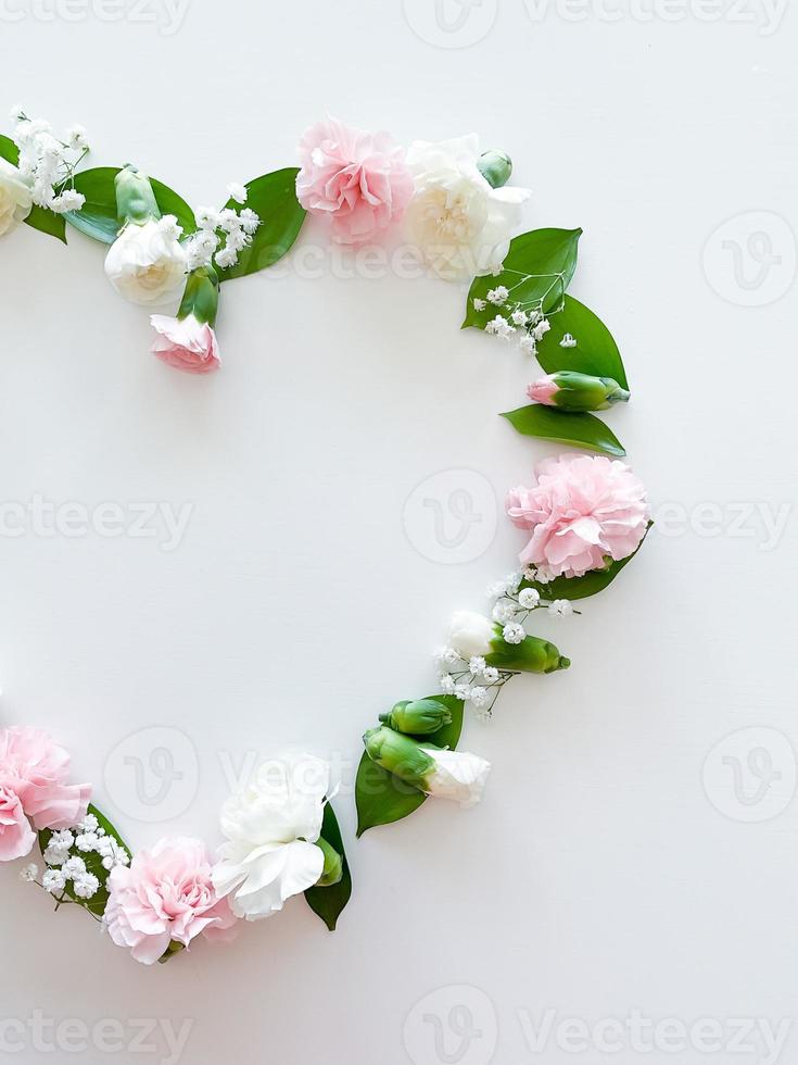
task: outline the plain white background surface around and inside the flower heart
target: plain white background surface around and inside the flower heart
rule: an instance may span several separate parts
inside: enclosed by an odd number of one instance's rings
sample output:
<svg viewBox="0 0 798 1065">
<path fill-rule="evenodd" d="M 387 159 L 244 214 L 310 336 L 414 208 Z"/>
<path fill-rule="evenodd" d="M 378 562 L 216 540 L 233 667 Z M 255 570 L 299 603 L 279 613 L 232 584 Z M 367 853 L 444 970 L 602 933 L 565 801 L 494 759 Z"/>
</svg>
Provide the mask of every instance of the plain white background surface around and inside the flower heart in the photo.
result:
<svg viewBox="0 0 798 1065">
<path fill-rule="evenodd" d="M 633 401 L 609 421 L 661 518 L 581 617 L 541 622 L 571 671 L 469 719 L 464 747 L 494 766 L 482 805 L 428 803 L 355 842 L 360 732 L 433 687 L 449 611 L 482 605 L 521 548 L 502 499 L 547 449 L 496 414 L 534 367 L 459 331 L 456 286 L 342 276 L 327 256 L 316 277 L 282 264 L 230 285 L 224 368 L 191 378 L 148 353 L 99 246 L 4 240 L 0 499 L 193 511 L 174 551 L 2 537 L 2 721 L 51 729 L 134 845 L 215 845 L 229 767 L 311 746 L 343 763 L 355 878 L 334 935 L 299 899 L 230 948 L 148 969 L 2 869 L 2 1018 L 125 1032 L 115 1055 L 96 1035 L 71 1053 L 49 1028 L 46 1054 L 28 1029 L 16 1060 L 169 1060 L 163 1028 L 134 1044 L 131 1020 L 152 1018 L 191 1022 L 181 1060 L 198 1065 L 773 1061 L 761 1036 L 735 1055 L 732 1020 L 793 1017 L 798 975 L 796 21 L 773 25 L 764 0 L 653 3 L 483 0 L 447 30 L 431 0 L 190 0 L 173 33 L 161 0 L 3 7 L 5 104 L 81 122 L 96 165 L 136 162 L 193 203 L 293 165 L 328 111 L 405 143 L 477 130 L 506 148 L 534 190 L 528 228 L 585 229 L 572 291 L 625 356 Z M 308 224 L 296 248 L 313 246 Z M 429 506 L 404 516 L 441 472 L 422 496 L 442 505 L 482 486 L 460 564 L 431 560 Z M 774 543 L 762 514 L 780 510 Z M 118 744 L 155 726 L 187 737 L 168 734 L 186 809 L 144 823 L 124 757 L 151 734 Z M 567 1018 L 593 1032 L 633 1011 L 713 1018 L 720 1038 L 558 1044 Z M 796 1052 L 798 1022 L 781 1060 Z"/>
</svg>

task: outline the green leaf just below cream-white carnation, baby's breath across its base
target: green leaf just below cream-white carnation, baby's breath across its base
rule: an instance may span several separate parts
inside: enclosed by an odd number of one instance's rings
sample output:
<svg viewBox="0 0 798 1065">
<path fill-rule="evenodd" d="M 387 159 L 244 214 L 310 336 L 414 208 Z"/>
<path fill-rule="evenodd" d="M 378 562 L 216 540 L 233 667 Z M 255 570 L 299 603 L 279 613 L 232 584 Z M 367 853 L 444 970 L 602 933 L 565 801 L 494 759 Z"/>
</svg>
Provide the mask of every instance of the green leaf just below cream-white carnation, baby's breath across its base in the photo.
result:
<svg viewBox="0 0 798 1065">
<path fill-rule="evenodd" d="M 492 303 L 484 311 L 476 311 L 473 306 L 474 299 L 486 300 L 489 289 L 499 285 L 510 290 L 514 304 L 536 304 L 542 300 L 544 314 L 555 311 L 561 305 L 577 268 L 581 236 L 581 229 L 533 229 L 514 237 L 502 273 L 496 277 L 474 277 L 471 283 L 461 328 L 484 329 L 491 318 L 501 313 L 501 309 Z M 522 280 L 520 275 L 530 276 Z"/>
</svg>

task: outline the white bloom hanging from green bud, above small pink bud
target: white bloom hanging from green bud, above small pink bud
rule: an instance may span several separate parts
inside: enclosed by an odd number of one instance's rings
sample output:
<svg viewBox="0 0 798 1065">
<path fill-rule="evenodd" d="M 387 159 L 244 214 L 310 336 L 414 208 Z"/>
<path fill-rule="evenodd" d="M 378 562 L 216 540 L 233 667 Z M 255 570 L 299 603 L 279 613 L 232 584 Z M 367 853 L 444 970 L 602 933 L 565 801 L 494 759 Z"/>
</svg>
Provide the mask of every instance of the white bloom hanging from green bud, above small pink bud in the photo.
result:
<svg viewBox="0 0 798 1065">
<path fill-rule="evenodd" d="M 105 256 L 105 273 L 131 303 L 154 306 L 180 296 L 186 284 L 186 252 L 174 220 L 128 224 Z"/>
</svg>

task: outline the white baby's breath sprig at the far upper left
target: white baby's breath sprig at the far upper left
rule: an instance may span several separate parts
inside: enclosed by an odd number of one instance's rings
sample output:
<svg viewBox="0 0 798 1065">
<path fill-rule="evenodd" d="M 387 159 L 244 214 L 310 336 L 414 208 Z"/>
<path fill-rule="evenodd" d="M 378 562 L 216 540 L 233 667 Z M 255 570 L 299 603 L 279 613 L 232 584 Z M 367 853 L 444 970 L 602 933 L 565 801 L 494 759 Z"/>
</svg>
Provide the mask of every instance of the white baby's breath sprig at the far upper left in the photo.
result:
<svg viewBox="0 0 798 1065">
<path fill-rule="evenodd" d="M 43 118 L 28 118 L 20 108 L 12 110 L 11 118 L 15 123 L 13 140 L 20 149 L 17 170 L 30 187 L 34 203 L 55 214 L 79 211 L 86 197 L 66 186 L 89 150 L 84 127 L 72 126 L 64 140 L 59 140 Z"/>
</svg>

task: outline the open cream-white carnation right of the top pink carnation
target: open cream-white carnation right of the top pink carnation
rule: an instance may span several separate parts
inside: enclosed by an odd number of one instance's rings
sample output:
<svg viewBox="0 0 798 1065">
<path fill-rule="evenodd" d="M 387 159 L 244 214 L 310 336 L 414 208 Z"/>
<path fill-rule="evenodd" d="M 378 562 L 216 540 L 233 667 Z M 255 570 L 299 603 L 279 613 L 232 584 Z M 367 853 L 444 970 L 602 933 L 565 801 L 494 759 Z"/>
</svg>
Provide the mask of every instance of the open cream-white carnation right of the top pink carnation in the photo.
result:
<svg viewBox="0 0 798 1065">
<path fill-rule="evenodd" d="M 490 274 L 504 262 L 522 221 L 528 189 L 494 189 L 477 166 L 476 134 L 440 143 L 416 141 L 407 152 L 416 190 L 407 209 L 410 240 L 445 280 Z"/>
</svg>

